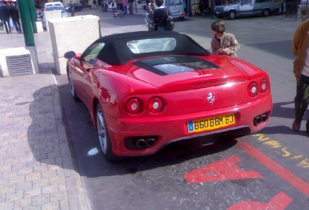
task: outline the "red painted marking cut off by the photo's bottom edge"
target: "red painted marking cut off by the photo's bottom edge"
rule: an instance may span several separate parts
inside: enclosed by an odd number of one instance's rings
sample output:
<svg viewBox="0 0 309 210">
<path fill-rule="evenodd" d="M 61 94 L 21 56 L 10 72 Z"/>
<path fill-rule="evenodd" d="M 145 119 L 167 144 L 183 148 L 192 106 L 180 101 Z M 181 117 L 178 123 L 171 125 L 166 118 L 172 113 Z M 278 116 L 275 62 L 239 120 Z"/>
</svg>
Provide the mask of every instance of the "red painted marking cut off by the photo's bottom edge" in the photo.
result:
<svg viewBox="0 0 309 210">
<path fill-rule="evenodd" d="M 238 204 L 234 204 L 227 210 L 284 210 L 292 202 L 290 198 L 284 192 L 279 192 L 268 203 L 260 203 L 256 201 L 246 201 Z"/>
</svg>

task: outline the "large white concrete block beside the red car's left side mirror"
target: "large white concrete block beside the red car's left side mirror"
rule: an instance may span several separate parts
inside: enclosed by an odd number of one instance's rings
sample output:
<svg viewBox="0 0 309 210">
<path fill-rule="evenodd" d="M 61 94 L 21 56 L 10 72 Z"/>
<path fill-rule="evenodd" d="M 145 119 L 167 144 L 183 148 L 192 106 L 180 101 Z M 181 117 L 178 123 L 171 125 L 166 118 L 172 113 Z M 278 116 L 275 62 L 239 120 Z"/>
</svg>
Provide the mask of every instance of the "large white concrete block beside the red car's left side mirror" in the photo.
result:
<svg viewBox="0 0 309 210">
<path fill-rule="evenodd" d="M 59 74 L 67 74 L 66 52 L 83 53 L 100 37 L 99 20 L 97 16 L 87 15 L 49 21 L 53 59 Z"/>
</svg>

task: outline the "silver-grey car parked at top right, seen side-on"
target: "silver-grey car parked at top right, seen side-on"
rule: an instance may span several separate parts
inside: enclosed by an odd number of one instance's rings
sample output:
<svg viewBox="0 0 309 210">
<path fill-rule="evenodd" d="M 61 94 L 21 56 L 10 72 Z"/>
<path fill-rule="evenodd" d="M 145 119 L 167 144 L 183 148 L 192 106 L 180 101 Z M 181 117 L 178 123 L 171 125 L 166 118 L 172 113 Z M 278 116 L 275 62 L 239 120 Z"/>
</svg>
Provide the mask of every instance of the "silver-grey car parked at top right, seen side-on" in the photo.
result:
<svg viewBox="0 0 309 210">
<path fill-rule="evenodd" d="M 279 12 L 282 0 L 230 0 L 228 4 L 215 6 L 218 18 L 228 17 L 235 19 L 243 16 L 269 16 L 271 13 Z"/>
</svg>

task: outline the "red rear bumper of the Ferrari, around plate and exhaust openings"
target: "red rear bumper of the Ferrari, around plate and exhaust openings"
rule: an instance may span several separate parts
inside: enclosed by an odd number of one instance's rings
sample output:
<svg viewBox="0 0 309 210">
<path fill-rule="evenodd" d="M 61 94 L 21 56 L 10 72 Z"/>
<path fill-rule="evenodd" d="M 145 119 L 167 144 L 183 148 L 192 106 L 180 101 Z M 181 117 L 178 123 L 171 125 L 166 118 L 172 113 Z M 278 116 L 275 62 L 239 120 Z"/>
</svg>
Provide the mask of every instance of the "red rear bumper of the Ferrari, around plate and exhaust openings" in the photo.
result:
<svg viewBox="0 0 309 210">
<path fill-rule="evenodd" d="M 108 125 L 108 134 L 112 141 L 112 150 L 115 155 L 143 156 L 154 154 L 167 144 L 178 140 L 191 139 L 211 134 L 221 134 L 232 130 L 236 131 L 237 134 L 237 131 L 240 128 L 247 128 L 245 134 L 257 132 L 266 126 L 272 107 L 272 96 L 269 94 L 266 97 L 242 105 L 177 116 L 117 119 L 104 114 L 104 117 Z M 235 114 L 235 124 L 233 125 L 210 131 L 197 133 L 188 132 L 188 121 L 231 113 Z M 254 118 L 263 113 L 267 113 L 266 122 L 255 126 L 253 123 Z M 130 149 L 126 146 L 125 140 L 127 138 L 149 136 L 157 137 L 153 147 Z"/>
</svg>

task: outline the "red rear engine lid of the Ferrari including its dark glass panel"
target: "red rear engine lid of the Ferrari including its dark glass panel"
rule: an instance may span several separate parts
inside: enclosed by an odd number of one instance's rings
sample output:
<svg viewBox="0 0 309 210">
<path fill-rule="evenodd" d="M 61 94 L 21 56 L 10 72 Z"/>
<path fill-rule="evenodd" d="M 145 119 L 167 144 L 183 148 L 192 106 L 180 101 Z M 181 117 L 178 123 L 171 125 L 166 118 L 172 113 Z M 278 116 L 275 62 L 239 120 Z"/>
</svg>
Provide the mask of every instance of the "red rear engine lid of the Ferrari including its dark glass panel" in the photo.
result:
<svg viewBox="0 0 309 210">
<path fill-rule="evenodd" d="M 164 56 L 146 58 L 133 63 L 139 67 L 134 77 L 145 81 L 161 92 L 200 89 L 236 83 L 249 75 L 226 57 L 215 62 L 197 56 Z"/>
</svg>

